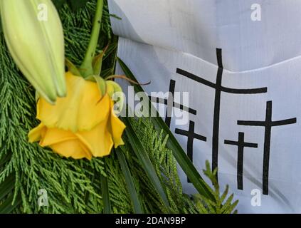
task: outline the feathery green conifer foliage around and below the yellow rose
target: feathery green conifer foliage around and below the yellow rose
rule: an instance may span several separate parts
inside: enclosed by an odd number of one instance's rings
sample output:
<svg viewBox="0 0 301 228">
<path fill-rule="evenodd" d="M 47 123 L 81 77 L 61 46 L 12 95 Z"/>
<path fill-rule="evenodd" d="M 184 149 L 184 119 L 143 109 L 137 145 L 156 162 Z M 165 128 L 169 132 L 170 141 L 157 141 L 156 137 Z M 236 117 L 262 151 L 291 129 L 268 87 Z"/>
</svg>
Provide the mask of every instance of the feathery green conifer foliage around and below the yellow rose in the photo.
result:
<svg viewBox="0 0 301 228">
<path fill-rule="evenodd" d="M 66 57 L 79 66 L 90 40 L 96 1 L 80 1 L 79 5 L 60 2 L 56 4 L 65 31 Z M 97 51 L 107 44 L 102 76 L 114 73 L 117 50 L 106 2 Z M 168 137 L 155 130 L 149 119 L 128 118 L 128 122 L 159 177 L 161 194 L 152 185 L 127 134 L 125 146 L 109 157 L 91 161 L 65 159 L 28 143 L 29 130 L 38 125 L 35 91 L 16 68 L 3 34 L 0 66 L 0 213 L 216 213 L 232 212 L 236 206 L 231 203 L 232 196 L 223 204 L 227 194 L 220 197 L 214 190 L 214 202 L 184 194 L 173 152 L 167 149 Z M 42 189 L 47 191 L 48 207 L 38 206 Z M 162 194 L 167 202 L 162 202 Z"/>
</svg>

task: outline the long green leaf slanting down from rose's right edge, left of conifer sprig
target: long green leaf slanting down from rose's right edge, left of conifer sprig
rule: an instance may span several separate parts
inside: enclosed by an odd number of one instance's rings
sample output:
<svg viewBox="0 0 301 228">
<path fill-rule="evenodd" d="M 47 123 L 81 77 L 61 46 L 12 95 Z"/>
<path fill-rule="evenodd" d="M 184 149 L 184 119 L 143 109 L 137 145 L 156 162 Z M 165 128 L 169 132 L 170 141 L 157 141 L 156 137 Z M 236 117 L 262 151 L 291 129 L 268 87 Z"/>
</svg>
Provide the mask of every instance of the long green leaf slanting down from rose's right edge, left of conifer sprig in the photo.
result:
<svg viewBox="0 0 301 228">
<path fill-rule="evenodd" d="M 164 203 L 164 206 L 169 210 L 169 202 L 167 196 L 164 192 L 164 189 L 161 185 L 159 177 L 157 175 L 156 170 L 154 169 L 154 165 L 152 165 L 151 160 L 149 159 L 149 155 L 147 151 L 144 149 L 142 142 L 140 142 L 139 138 L 137 137 L 136 133 L 134 132 L 130 121 L 127 118 L 121 118 L 123 123 L 127 126 L 125 128 L 125 133 L 127 134 L 127 138 L 129 139 L 130 145 L 134 150 L 134 153 L 138 157 L 139 161 L 142 163 L 142 167 L 144 171 L 147 173 L 149 180 L 152 182 L 152 185 L 156 188 L 159 196 Z"/>
</svg>

